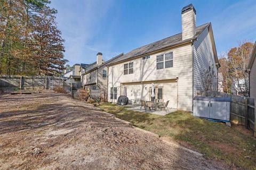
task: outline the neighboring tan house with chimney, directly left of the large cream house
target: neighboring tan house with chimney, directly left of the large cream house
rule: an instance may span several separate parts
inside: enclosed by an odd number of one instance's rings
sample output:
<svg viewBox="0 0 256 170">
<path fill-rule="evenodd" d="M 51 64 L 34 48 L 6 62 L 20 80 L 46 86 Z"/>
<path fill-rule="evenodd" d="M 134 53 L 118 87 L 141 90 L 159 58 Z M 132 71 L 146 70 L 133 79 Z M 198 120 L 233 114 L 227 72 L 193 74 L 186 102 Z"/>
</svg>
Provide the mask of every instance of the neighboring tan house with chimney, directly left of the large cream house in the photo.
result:
<svg viewBox="0 0 256 170">
<path fill-rule="evenodd" d="M 96 57 L 96 62 L 85 67 L 85 72 L 82 74 L 83 87 L 90 91 L 91 96 L 94 98 L 102 96 L 107 99 L 107 64 L 111 64 L 111 62 L 114 62 L 122 55 L 123 53 L 105 62 L 102 60 L 102 53 L 99 52 Z"/>
</svg>

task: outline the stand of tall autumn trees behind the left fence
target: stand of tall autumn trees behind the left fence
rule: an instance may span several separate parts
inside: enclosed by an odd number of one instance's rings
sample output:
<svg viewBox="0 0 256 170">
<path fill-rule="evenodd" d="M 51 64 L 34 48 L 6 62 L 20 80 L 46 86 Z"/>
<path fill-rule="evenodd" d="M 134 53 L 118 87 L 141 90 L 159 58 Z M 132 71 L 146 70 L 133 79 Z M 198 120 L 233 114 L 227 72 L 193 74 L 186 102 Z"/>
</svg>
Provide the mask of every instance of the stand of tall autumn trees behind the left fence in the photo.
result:
<svg viewBox="0 0 256 170">
<path fill-rule="evenodd" d="M 59 75 L 64 39 L 49 0 L 0 0 L 0 74 Z"/>
</svg>

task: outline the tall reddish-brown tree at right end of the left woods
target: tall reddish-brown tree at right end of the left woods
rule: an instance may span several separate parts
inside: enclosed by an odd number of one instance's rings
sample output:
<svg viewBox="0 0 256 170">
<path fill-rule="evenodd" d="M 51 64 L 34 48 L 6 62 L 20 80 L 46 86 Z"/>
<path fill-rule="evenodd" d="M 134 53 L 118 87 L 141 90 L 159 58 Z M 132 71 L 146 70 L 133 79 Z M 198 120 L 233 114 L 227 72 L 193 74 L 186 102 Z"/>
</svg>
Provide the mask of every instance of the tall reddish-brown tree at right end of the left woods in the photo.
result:
<svg viewBox="0 0 256 170">
<path fill-rule="evenodd" d="M 39 75 L 53 75 L 64 69 L 64 40 L 55 23 L 55 13 L 55 10 L 43 7 L 33 19 L 33 59 Z"/>
</svg>

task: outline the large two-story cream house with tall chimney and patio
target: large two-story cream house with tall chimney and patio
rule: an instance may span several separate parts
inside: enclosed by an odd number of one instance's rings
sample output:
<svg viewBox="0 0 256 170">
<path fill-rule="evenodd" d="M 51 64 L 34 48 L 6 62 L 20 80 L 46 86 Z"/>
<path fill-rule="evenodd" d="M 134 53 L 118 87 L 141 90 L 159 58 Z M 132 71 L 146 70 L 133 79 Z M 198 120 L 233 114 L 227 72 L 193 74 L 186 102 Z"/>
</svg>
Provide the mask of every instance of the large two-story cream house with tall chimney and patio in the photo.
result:
<svg viewBox="0 0 256 170">
<path fill-rule="evenodd" d="M 192 4 L 181 11 L 182 32 L 136 49 L 108 64 L 108 101 L 116 102 L 126 87 L 129 99 L 170 100 L 168 107 L 192 111 L 197 90 L 204 90 L 202 75 L 212 75 L 218 87 L 219 61 L 211 23 L 196 27 Z"/>
</svg>

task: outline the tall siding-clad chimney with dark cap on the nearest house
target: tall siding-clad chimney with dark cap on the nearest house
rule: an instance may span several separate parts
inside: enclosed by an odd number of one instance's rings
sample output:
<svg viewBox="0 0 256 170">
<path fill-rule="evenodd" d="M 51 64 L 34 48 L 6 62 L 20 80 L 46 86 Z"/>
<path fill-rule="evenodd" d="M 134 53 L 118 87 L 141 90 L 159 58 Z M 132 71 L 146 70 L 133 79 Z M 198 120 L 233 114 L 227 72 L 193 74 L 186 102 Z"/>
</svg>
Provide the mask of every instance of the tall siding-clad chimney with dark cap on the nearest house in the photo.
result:
<svg viewBox="0 0 256 170">
<path fill-rule="evenodd" d="M 196 10 L 189 4 L 181 10 L 182 40 L 193 38 L 196 35 Z"/>
</svg>

